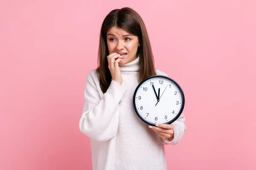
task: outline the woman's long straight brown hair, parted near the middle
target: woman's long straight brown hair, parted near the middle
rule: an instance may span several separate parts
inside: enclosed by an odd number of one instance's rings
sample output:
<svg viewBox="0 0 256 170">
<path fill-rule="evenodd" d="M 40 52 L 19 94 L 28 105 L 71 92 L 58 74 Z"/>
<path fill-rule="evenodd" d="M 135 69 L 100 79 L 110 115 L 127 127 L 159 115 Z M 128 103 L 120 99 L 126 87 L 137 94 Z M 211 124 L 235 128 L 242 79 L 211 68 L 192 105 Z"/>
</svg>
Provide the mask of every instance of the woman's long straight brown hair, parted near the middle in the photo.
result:
<svg viewBox="0 0 256 170">
<path fill-rule="evenodd" d="M 140 55 L 140 71 L 138 81 L 156 75 L 154 69 L 154 57 L 149 42 L 148 32 L 140 15 L 131 8 L 112 10 L 104 19 L 99 37 L 98 68 L 100 87 L 103 94 L 111 83 L 111 73 L 108 69 L 108 45 L 107 31 L 113 26 L 124 29 L 130 34 L 136 35 L 140 42 L 137 56 Z"/>
</svg>

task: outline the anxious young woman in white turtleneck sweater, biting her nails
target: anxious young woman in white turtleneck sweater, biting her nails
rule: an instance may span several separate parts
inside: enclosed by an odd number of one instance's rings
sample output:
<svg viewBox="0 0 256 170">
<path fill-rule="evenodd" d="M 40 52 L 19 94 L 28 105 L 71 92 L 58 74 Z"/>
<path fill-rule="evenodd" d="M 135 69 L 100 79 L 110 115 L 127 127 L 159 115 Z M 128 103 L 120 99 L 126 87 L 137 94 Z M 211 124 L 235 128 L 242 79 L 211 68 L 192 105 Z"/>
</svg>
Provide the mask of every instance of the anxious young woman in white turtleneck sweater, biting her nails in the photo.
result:
<svg viewBox="0 0 256 170">
<path fill-rule="evenodd" d="M 98 68 L 89 72 L 79 122 L 91 139 L 94 170 L 164 170 L 163 144 L 177 144 L 186 126 L 183 113 L 170 125 L 154 127 L 134 111 L 139 83 L 163 71 L 154 58 L 145 24 L 131 8 L 111 11 L 102 23 Z"/>
</svg>

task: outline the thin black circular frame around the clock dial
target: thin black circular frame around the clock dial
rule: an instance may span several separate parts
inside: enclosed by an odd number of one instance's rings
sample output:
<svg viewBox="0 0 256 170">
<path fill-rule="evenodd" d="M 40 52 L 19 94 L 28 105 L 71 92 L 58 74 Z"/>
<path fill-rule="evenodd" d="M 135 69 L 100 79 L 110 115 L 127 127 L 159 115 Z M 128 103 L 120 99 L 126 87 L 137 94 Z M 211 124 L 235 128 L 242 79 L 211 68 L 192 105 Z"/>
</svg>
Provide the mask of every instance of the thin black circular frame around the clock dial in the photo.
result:
<svg viewBox="0 0 256 170">
<path fill-rule="evenodd" d="M 182 90 L 182 88 L 180 87 L 180 85 L 179 85 L 174 79 L 172 79 L 172 78 L 170 78 L 170 77 L 167 77 L 167 76 L 164 76 L 164 75 L 154 75 L 154 76 L 150 76 L 150 77 L 144 79 L 143 81 L 141 81 L 140 84 L 137 86 L 137 88 L 136 88 L 135 91 L 134 91 L 134 96 L 133 96 L 134 110 L 136 111 L 136 113 L 137 113 L 137 115 L 139 116 L 139 118 L 140 118 L 143 122 L 145 122 L 146 124 L 148 124 L 148 125 L 153 125 L 153 126 L 155 126 L 155 125 L 157 124 L 157 123 L 156 123 L 156 124 L 152 124 L 151 122 L 146 121 L 142 116 L 140 116 L 139 112 L 137 111 L 136 104 L 135 104 L 135 96 L 136 96 L 136 93 L 137 93 L 138 89 L 140 88 L 140 86 L 143 84 L 143 82 L 147 81 L 148 79 L 154 78 L 154 77 L 163 77 L 163 78 L 169 79 L 169 80 L 171 80 L 172 82 L 174 82 L 175 85 L 177 85 L 177 87 L 178 87 L 179 90 L 180 90 L 181 97 L 182 97 L 182 105 L 181 105 L 181 108 L 180 108 L 180 112 L 179 112 L 179 113 L 175 116 L 175 118 L 172 119 L 171 121 L 163 123 L 163 124 L 171 124 L 172 122 L 175 122 L 175 120 L 177 120 L 177 119 L 179 118 L 180 114 L 182 113 L 183 108 L 184 108 L 184 105 L 185 105 L 185 96 L 184 96 L 183 90 Z"/>
</svg>

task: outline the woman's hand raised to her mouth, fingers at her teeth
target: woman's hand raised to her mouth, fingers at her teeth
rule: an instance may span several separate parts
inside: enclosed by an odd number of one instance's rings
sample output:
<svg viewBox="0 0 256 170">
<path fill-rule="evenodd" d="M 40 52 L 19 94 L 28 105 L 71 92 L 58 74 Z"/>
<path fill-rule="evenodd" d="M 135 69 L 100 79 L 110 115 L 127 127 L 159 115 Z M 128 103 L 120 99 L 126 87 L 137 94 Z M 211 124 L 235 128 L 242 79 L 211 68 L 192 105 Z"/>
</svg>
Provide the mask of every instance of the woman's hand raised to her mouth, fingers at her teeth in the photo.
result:
<svg viewBox="0 0 256 170">
<path fill-rule="evenodd" d="M 111 72 L 111 77 L 114 81 L 122 84 L 122 75 L 119 68 L 119 62 L 122 61 L 122 56 L 117 53 L 111 53 L 108 55 L 108 69 Z"/>
</svg>

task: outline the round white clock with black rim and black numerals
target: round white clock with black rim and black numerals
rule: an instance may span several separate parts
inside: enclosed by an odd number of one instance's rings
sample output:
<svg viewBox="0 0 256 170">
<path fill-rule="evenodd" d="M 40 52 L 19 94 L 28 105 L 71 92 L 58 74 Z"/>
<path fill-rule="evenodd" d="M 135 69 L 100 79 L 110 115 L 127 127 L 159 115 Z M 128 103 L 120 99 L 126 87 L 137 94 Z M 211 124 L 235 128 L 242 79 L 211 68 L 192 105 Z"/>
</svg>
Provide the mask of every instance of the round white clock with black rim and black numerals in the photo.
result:
<svg viewBox="0 0 256 170">
<path fill-rule="evenodd" d="M 184 103 L 180 85 L 163 75 L 151 76 L 140 82 L 133 98 L 137 115 L 149 125 L 171 124 L 182 113 Z"/>
</svg>

